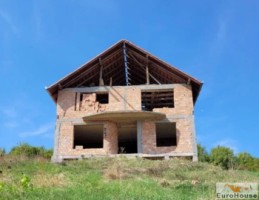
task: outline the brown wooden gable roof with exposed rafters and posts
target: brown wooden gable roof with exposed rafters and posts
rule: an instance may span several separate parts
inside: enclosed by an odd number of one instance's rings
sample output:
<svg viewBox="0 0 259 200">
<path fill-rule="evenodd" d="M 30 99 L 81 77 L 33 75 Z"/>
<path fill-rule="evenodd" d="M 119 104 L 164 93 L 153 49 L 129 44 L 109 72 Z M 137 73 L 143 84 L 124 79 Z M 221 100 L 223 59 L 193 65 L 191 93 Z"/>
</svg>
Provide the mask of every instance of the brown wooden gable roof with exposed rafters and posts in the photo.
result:
<svg viewBox="0 0 259 200">
<path fill-rule="evenodd" d="M 104 71 L 114 71 L 116 77 Z M 118 73 L 120 72 L 120 73 Z M 115 80 L 114 83 L 112 81 Z M 105 84 L 106 83 L 106 84 Z M 58 91 L 64 88 L 103 85 L 145 85 L 185 83 L 192 86 L 195 103 L 203 83 L 160 60 L 127 40 L 121 40 L 86 62 L 78 69 L 47 87 L 57 103 Z"/>
</svg>

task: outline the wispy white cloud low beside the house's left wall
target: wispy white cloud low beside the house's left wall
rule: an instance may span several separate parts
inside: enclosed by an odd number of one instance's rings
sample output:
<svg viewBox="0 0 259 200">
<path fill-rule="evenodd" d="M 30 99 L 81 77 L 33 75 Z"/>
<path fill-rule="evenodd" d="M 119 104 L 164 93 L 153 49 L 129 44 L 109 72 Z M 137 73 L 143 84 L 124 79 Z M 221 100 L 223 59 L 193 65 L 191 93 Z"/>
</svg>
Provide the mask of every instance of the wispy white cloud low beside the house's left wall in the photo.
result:
<svg viewBox="0 0 259 200">
<path fill-rule="evenodd" d="M 36 130 L 26 131 L 19 134 L 20 137 L 32 137 L 32 136 L 46 136 L 50 132 L 53 132 L 54 125 L 52 123 L 44 124 L 38 127 Z"/>
</svg>

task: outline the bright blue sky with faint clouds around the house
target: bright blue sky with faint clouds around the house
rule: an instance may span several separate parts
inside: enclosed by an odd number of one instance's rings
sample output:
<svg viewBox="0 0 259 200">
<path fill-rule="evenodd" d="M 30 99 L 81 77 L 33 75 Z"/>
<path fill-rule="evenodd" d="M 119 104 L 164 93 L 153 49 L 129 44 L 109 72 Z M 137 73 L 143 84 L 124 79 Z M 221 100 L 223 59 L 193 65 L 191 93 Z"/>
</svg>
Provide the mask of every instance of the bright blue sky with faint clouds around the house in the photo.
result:
<svg viewBox="0 0 259 200">
<path fill-rule="evenodd" d="M 127 39 L 204 82 L 203 146 L 259 157 L 258 11 L 257 0 L 0 0 L 0 147 L 52 147 L 44 87 Z"/>
</svg>

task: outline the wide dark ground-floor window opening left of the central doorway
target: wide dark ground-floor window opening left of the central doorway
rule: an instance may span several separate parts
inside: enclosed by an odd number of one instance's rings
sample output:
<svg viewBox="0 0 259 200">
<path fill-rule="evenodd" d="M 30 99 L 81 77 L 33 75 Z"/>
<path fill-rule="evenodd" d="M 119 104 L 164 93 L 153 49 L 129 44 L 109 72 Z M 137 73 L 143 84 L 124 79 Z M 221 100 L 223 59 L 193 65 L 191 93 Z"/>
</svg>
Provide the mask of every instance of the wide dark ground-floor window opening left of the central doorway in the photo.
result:
<svg viewBox="0 0 259 200">
<path fill-rule="evenodd" d="M 73 148 L 103 148 L 103 124 L 75 125 Z"/>
</svg>

